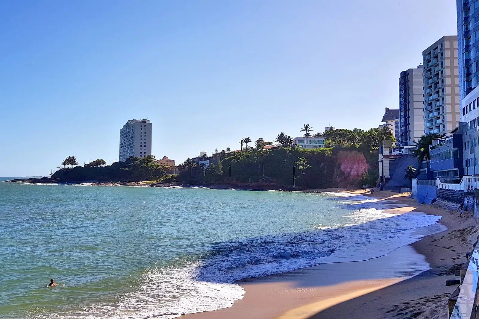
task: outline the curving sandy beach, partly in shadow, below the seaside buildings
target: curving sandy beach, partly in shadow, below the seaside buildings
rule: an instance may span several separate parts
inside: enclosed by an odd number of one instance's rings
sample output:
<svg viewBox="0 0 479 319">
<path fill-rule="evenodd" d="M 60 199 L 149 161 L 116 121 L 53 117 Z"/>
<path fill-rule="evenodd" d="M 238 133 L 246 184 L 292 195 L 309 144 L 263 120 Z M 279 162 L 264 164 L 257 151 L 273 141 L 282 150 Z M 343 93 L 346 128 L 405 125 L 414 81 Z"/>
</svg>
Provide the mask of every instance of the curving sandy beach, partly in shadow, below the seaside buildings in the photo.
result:
<svg viewBox="0 0 479 319">
<path fill-rule="evenodd" d="M 322 191 L 345 192 L 344 189 Z M 346 191 L 349 192 L 349 191 Z M 395 203 L 394 214 L 442 216 L 447 230 L 375 259 L 325 263 L 293 272 L 238 281 L 244 298 L 232 307 L 183 316 L 187 319 L 343 319 L 447 318 L 447 298 L 456 285 L 459 267 L 472 249 L 478 227 L 470 212 L 461 217 L 436 205 L 418 205 L 409 193 L 349 192 Z M 436 229 L 422 229 L 432 234 Z M 439 226 L 440 227 L 440 226 Z M 423 269 L 425 262 L 431 269 Z M 182 317 L 182 318 L 183 318 Z"/>
</svg>

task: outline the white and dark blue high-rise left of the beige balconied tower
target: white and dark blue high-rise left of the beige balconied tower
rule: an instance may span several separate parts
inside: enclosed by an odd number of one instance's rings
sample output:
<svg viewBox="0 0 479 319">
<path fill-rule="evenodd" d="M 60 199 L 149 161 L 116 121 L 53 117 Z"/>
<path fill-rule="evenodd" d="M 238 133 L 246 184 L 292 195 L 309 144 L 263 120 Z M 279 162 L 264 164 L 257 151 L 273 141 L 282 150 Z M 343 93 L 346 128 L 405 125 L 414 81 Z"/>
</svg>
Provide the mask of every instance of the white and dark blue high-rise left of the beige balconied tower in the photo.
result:
<svg viewBox="0 0 479 319">
<path fill-rule="evenodd" d="M 400 146 L 412 146 L 424 135 L 424 96 L 422 65 L 409 68 L 399 76 Z"/>
</svg>

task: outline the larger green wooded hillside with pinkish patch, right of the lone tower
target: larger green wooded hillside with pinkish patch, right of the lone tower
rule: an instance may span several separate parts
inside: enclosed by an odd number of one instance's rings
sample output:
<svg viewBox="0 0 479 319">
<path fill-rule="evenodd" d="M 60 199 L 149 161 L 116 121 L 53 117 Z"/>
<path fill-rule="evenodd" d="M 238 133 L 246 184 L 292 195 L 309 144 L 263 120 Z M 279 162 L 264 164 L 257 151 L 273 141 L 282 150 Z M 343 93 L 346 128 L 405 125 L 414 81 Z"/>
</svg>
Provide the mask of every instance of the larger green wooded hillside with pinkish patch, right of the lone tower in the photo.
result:
<svg viewBox="0 0 479 319">
<path fill-rule="evenodd" d="M 310 136 L 310 125 L 301 132 Z M 215 153 L 210 166 L 197 165 L 186 159 L 179 165 L 177 181 L 193 183 L 272 183 L 304 188 L 327 188 L 335 186 L 376 185 L 378 172 L 378 148 L 383 140 L 393 140 L 392 132 L 386 129 L 333 129 L 319 133 L 327 138 L 327 148 L 302 149 L 293 147 L 293 138 L 281 132 L 275 138 L 276 149 L 263 149 L 271 145 L 263 138 L 255 141 L 255 148 L 246 144 L 241 152 Z M 248 142 L 247 142 L 248 141 Z M 343 167 L 344 166 L 344 167 Z M 359 172 L 359 176 L 358 173 Z"/>
</svg>

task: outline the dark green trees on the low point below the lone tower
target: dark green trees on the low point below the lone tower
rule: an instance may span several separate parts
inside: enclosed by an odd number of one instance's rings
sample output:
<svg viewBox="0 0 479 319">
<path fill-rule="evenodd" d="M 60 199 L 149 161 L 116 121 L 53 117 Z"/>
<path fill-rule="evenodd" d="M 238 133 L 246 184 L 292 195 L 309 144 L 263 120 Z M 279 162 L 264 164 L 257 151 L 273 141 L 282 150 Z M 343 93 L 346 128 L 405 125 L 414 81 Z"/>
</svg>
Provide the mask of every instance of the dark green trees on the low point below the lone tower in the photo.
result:
<svg viewBox="0 0 479 319">
<path fill-rule="evenodd" d="M 152 155 L 144 158 L 130 157 L 124 162 L 114 162 L 112 165 L 104 165 L 103 159 L 97 159 L 86 164 L 85 167 L 62 168 L 56 171 L 52 175 L 52 178 L 57 178 L 60 182 L 139 182 L 152 180 L 163 181 L 169 177 Z"/>
</svg>

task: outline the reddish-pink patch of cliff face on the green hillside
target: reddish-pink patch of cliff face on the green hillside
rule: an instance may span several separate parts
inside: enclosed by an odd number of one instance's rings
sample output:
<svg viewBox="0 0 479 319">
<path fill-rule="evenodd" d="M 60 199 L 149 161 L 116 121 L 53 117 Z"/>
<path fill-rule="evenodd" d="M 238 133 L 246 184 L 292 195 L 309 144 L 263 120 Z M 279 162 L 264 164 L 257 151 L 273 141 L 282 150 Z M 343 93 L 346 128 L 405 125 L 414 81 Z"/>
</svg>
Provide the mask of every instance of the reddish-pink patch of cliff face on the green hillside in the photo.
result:
<svg viewBox="0 0 479 319">
<path fill-rule="evenodd" d="M 341 150 L 337 155 L 334 181 L 338 187 L 357 186 L 361 175 L 367 172 L 368 166 L 362 153 L 354 150 Z"/>
</svg>

